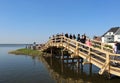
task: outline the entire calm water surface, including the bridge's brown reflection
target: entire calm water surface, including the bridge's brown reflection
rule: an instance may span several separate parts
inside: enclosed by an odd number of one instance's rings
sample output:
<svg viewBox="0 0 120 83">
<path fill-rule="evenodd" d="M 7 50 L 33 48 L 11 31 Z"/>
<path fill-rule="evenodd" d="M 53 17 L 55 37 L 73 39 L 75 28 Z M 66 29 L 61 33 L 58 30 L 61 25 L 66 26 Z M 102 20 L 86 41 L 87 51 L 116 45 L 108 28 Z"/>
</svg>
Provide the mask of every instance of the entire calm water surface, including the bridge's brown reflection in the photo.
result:
<svg viewBox="0 0 120 83">
<path fill-rule="evenodd" d="M 0 45 L 0 83 L 119 83 L 120 78 L 108 80 L 98 75 L 99 69 L 89 65 L 77 68 L 63 64 L 57 58 L 8 54 L 25 45 Z"/>
</svg>

